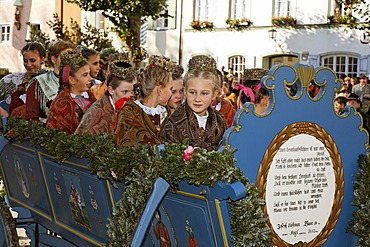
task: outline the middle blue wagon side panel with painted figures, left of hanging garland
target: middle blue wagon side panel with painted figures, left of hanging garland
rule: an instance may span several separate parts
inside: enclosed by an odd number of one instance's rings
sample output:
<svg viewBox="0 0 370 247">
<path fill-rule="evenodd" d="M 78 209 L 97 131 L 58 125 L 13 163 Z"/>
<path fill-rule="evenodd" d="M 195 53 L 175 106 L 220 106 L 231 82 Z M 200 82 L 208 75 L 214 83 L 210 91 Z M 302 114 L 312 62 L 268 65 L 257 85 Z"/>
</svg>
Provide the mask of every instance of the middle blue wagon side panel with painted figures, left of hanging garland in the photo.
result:
<svg viewBox="0 0 370 247">
<path fill-rule="evenodd" d="M 92 174 L 85 160 L 58 164 L 43 154 L 40 159 L 55 223 L 76 235 L 76 239 L 106 243 L 106 223 L 113 205 L 110 185 Z"/>
</svg>

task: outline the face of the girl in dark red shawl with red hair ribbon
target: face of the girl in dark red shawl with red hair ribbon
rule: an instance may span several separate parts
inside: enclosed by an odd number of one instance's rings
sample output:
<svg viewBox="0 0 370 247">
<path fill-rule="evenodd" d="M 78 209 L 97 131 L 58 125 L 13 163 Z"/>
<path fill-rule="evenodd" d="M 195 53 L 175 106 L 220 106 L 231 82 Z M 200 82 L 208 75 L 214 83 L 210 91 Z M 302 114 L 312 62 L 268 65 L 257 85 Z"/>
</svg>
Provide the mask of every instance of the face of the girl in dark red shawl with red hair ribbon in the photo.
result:
<svg viewBox="0 0 370 247">
<path fill-rule="evenodd" d="M 76 95 L 81 95 L 89 90 L 91 86 L 89 65 L 82 66 L 74 76 L 70 76 L 69 84 L 71 93 Z"/>
</svg>

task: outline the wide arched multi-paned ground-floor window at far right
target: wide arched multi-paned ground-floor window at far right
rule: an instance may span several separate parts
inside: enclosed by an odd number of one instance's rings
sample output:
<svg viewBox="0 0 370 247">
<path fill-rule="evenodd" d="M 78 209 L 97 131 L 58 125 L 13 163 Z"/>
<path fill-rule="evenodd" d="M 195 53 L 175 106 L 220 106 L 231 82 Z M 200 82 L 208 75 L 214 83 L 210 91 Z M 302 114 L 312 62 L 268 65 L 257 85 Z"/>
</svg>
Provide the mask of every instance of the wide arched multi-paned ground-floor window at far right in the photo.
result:
<svg viewBox="0 0 370 247">
<path fill-rule="evenodd" d="M 358 58 L 347 55 L 330 55 L 321 58 L 321 66 L 332 68 L 337 75 L 356 77 L 358 71 Z"/>
</svg>

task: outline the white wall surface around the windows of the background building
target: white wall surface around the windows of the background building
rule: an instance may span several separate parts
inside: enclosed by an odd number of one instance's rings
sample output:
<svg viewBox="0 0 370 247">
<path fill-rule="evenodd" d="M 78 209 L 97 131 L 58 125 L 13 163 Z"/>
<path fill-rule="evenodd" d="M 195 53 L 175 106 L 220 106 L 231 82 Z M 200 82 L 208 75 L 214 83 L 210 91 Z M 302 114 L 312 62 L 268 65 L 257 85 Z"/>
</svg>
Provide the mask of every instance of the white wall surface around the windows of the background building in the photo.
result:
<svg viewBox="0 0 370 247">
<path fill-rule="evenodd" d="M 177 29 L 148 31 L 149 54 L 162 54 L 177 62 L 181 57 L 180 64 L 186 69 L 187 61 L 196 54 L 213 56 L 221 68 L 222 65 L 227 66 L 228 58 L 233 55 L 245 56 L 246 67 L 267 67 L 268 58 L 276 55 L 294 55 L 298 56 L 300 63 L 318 65 L 322 55 L 344 53 L 362 57 L 362 68 L 366 67 L 366 73 L 370 73 L 368 65 L 370 45 L 359 42 L 361 32 L 350 29 L 345 31 L 344 26 L 327 24 L 327 16 L 334 11 L 334 0 L 297 0 L 298 25 L 296 28 L 276 28 L 275 40 L 268 37 L 271 18 L 275 12 L 272 0 L 251 0 L 250 19 L 254 25 L 243 32 L 226 29 L 225 19 L 229 15 L 229 1 L 225 0 L 212 1 L 215 19 L 209 21 L 214 22 L 216 26 L 214 31 L 193 31 L 189 24 L 194 18 L 194 1 L 183 1 L 185 4 L 182 29 L 179 28 L 181 16 L 179 0 L 177 1 Z M 182 42 L 179 40 L 180 31 Z M 179 52 L 180 43 L 182 43 L 182 52 Z M 300 60 L 302 52 L 308 52 L 310 59 Z M 359 72 L 360 70 L 364 69 L 359 68 Z"/>
</svg>

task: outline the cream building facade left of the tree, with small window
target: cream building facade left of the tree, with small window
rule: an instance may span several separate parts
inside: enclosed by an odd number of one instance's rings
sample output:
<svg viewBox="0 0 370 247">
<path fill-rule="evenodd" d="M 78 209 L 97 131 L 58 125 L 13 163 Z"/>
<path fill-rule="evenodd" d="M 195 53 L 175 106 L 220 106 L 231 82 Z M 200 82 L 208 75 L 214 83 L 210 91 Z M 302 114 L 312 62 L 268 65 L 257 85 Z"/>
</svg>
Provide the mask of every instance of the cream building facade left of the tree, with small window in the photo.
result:
<svg viewBox="0 0 370 247">
<path fill-rule="evenodd" d="M 0 68 L 24 70 L 20 50 L 30 37 L 31 27 L 54 38 L 47 25 L 54 13 L 66 26 L 71 18 L 81 23 L 81 10 L 66 0 L 0 0 Z"/>
</svg>

